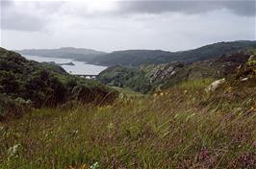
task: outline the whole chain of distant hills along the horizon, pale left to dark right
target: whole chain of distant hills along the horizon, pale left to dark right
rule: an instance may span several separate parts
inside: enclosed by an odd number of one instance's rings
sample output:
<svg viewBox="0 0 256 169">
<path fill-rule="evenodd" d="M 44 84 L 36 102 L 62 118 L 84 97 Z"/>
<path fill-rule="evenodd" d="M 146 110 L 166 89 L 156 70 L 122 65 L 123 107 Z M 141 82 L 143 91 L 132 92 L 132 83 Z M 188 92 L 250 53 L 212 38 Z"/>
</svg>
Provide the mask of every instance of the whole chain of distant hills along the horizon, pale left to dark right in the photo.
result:
<svg viewBox="0 0 256 169">
<path fill-rule="evenodd" d="M 256 47 L 256 41 L 241 40 L 218 42 L 197 49 L 180 52 L 162 50 L 124 50 L 105 53 L 91 49 L 73 47 L 64 47 L 60 49 L 24 49 L 16 52 L 21 55 L 73 59 L 105 66 L 140 66 L 142 64 L 160 64 L 171 61 L 193 62 L 210 60 L 226 53 L 234 53 L 253 47 Z"/>
</svg>

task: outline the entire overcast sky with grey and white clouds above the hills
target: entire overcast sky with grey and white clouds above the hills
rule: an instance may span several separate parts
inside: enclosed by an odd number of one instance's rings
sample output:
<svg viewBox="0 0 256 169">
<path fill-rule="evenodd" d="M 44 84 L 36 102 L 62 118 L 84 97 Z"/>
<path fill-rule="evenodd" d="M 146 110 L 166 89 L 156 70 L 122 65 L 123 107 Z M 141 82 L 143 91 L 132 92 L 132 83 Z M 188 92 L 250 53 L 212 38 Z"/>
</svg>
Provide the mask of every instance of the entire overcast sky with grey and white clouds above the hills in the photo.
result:
<svg viewBox="0 0 256 169">
<path fill-rule="evenodd" d="M 255 40 L 255 1 L 3 1 L 1 46 L 178 51 Z"/>
</svg>

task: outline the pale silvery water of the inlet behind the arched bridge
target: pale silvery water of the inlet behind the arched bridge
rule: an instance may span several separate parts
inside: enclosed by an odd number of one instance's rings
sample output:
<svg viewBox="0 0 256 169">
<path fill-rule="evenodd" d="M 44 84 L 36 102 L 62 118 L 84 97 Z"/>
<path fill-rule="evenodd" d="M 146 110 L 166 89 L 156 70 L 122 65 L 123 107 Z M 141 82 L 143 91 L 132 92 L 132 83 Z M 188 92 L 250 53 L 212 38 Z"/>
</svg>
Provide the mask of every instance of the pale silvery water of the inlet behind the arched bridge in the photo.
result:
<svg viewBox="0 0 256 169">
<path fill-rule="evenodd" d="M 74 65 L 61 65 L 61 66 L 64 68 L 66 72 L 74 75 L 97 75 L 101 71 L 107 68 L 106 66 L 87 64 L 82 61 L 74 61 L 71 59 L 45 58 L 45 57 L 28 56 L 28 55 L 24 55 L 23 57 L 25 57 L 28 60 L 36 60 L 38 62 L 54 61 L 55 63 L 58 63 L 58 64 L 73 62 Z"/>
</svg>

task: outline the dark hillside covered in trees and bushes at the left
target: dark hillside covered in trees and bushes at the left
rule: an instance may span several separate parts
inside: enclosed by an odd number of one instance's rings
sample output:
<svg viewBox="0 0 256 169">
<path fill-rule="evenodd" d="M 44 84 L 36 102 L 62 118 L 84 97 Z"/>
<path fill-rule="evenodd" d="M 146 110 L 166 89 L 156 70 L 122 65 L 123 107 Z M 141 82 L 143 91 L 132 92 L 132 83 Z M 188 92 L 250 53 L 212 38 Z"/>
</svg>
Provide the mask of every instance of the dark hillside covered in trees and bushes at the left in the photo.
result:
<svg viewBox="0 0 256 169">
<path fill-rule="evenodd" d="M 26 108 L 56 107 L 67 102 L 105 103 L 115 91 L 95 81 L 69 75 L 53 63 L 26 60 L 0 48 L 0 118 Z"/>
</svg>

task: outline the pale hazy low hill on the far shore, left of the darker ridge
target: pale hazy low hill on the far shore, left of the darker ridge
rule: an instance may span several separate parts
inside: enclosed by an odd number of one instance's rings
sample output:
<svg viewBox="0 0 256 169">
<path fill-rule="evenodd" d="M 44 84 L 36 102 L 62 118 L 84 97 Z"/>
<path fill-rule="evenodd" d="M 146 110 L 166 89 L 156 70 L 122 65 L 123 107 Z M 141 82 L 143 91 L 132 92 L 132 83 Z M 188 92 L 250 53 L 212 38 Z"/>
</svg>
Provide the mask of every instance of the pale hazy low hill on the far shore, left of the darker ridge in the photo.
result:
<svg viewBox="0 0 256 169">
<path fill-rule="evenodd" d="M 24 50 L 15 51 L 15 52 L 21 55 L 73 59 L 73 60 L 82 60 L 82 61 L 92 60 L 95 57 L 106 54 L 104 52 L 95 51 L 92 49 L 73 48 L 73 47 L 63 47 L 60 49 L 24 49 Z"/>
</svg>

